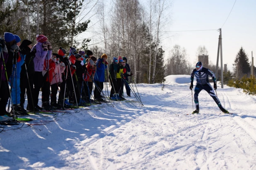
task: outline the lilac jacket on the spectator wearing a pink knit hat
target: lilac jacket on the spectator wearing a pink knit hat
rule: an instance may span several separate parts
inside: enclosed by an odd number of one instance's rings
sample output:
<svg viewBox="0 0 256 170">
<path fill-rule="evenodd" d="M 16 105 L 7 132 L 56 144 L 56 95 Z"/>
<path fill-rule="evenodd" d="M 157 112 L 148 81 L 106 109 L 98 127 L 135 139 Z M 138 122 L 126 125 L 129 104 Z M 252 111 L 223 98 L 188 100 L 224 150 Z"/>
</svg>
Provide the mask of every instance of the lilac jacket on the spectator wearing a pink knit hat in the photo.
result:
<svg viewBox="0 0 256 170">
<path fill-rule="evenodd" d="M 42 43 L 38 42 L 34 47 L 31 49 L 31 52 L 36 48 L 36 54 L 34 58 L 34 65 L 35 65 L 35 71 L 43 71 L 43 64 L 44 60 L 51 58 L 51 50 L 48 50 L 49 55 L 47 51 L 43 51 Z M 49 57 L 50 56 L 50 57 Z"/>
</svg>

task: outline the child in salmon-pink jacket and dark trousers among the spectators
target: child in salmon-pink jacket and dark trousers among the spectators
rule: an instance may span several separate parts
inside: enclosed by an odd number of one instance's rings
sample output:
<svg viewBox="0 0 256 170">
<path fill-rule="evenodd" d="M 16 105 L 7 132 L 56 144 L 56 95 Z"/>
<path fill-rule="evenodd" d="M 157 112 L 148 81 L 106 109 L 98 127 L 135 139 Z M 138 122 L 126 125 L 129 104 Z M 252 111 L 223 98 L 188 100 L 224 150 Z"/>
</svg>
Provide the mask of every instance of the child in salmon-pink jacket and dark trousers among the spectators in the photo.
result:
<svg viewBox="0 0 256 170">
<path fill-rule="evenodd" d="M 60 63 L 60 56 L 56 53 L 52 54 L 52 62 L 55 65 L 52 65 L 53 68 L 50 68 L 49 73 L 52 75 L 51 80 L 51 106 L 53 108 L 61 108 L 61 105 L 57 104 L 57 92 L 59 85 L 63 82 L 62 80 L 62 73 L 65 70 L 65 64 L 63 62 Z M 59 98 L 63 98 L 61 94 L 59 94 Z"/>
</svg>

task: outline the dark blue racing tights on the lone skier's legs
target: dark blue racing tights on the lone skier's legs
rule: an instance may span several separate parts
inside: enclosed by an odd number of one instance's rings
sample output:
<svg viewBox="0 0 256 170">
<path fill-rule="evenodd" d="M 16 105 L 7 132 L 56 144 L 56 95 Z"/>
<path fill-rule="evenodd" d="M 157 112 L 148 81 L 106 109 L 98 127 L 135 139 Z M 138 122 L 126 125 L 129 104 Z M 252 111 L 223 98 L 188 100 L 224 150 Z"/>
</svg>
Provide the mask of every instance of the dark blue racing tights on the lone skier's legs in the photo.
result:
<svg viewBox="0 0 256 170">
<path fill-rule="evenodd" d="M 210 96 L 213 98 L 213 100 L 215 101 L 215 103 L 218 105 L 218 107 L 220 109 L 222 109 L 222 105 L 220 104 L 220 100 L 218 99 L 218 97 L 215 95 L 215 92 L 213 90 L 213 87 L 210 85 L 210 83 L 207 83 L 205 85 L 201 85 L 199 83 L 196 84 L 195 90 L 194 90 L 194 102 L 196 104 L 196 109 L 199 109 L 199 102 L 198 102 L 198 95 L 200 93 L 201 90 L 205 90 L 206 92 L 208 92 L 208 94 L 210 94 Z"/>
</svg>

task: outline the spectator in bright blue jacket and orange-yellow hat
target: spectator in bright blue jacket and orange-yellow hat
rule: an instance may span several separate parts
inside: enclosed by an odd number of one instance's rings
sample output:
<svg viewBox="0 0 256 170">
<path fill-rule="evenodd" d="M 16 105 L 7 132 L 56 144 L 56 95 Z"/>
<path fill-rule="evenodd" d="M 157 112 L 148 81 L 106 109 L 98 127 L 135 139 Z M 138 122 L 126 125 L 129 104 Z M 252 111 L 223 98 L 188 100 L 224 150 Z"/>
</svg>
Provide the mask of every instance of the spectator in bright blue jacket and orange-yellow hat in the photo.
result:
<svg viewBox="0 0 256 170">
<path fill-rule="evenodd" d="M 106 54 L 102 54 L 101 58 L 98 59 L 96 62 L 97 71 L 94 76 L 94 99 L 99 101 L 103 101 L 103 99 L 101 99 L 101 92 L 103 90 L 103 82 L 105 81 L 105 70 L 108 64 L 108 62 L 106 61 L 107 58 L 108 56 Z"/>
</svg>

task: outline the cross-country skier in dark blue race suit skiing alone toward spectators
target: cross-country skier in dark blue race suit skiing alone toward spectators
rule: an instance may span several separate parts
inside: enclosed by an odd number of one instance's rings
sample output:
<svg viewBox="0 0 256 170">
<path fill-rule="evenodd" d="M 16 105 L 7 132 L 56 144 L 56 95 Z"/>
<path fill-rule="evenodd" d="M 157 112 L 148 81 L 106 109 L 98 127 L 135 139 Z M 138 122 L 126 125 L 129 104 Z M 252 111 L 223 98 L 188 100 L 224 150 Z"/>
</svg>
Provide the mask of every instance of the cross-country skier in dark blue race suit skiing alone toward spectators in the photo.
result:
<svg viewBox="0 0 256 170">
<path fill-rule="evenodd" d="M 210 75 L 213 78 L 213 87 L 210 85 L 209 80 L 208 80 L 208 75 Z M 214 90 L 217 89 L 217 82 L 215 75 L 213 71 L 210 71 L 208 68 L 204 68 L 203 64 L 201 61 L 198 61 L 196 63 L 196 68 L 193 69 L 191 73 L 191 85 L 189 87 L 190 90 L 193 89 L 193 81 L 194 81 L 194 76 L 196 76 L 196 87 L 195 87 L 195 94 L 194 94 L 194 102 L 196 103 L 196 110 L 192 112 L 194 113 L 199 113 L 199 102 L 198 102 L 198 94 L 200 93 L 201 90 L 205 90 L 210 94 L 211 97 L 213 97 L 214 101 L 216 104 L 219 106 L 220 110 L 223 113 L 229 113 L 226 109 L 224 109 L 220 103 L 220 100 L 218 97 L 215 95 Z M 214 90 L 213 90 L 214 88 Z"/>
</svg>

